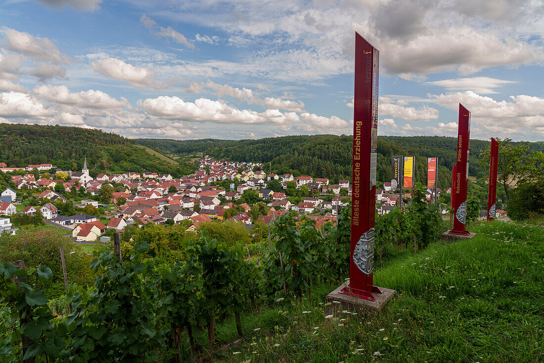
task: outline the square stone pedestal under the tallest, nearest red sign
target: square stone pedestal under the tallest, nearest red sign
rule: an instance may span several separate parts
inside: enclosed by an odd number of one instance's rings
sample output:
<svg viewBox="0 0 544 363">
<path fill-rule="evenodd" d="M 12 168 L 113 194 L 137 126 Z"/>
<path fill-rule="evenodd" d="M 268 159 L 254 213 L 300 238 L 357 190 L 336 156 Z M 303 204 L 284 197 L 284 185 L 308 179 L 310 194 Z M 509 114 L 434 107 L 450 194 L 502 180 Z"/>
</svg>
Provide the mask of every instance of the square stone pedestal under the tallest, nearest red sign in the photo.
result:
<svg viewBox="0 0 544 363">
<path fill-rule="evenodd" d="M 372 293 L 376 300 L 369 301 L 341 293 L 341 290 L 344 287 L 346 287 L 345 283 L 340 285 L 335 291 L 331 292 L 325 298 L 325 302 L 331 303 L 330 306 L 325 307 L 326 315 L 342 314 L 343 311 L 349 311 L 350 313 L 356 312 L 359 315 L 379 312 L 397 293 L 394 290 L 380 287 L 380 290 L 383 293 Z"/>
</svg>

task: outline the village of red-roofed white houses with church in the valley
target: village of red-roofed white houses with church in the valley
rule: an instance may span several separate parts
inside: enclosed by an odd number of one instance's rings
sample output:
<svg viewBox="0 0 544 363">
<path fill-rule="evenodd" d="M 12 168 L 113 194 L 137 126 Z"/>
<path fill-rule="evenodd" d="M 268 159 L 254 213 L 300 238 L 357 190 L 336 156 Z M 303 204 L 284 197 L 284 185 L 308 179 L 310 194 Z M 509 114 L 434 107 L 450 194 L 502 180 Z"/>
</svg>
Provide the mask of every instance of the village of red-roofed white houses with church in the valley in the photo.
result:
<svg viewBox="0 0 544 363">
<path fill-rule="evenodd" d="M 248 229 L 256 221 L 267 225 L 275 217 L 294 211 L 316 221 L 336 223 L 338 212 L 351 198 L 351 183 L 339 179 L 295 177 L 265 173 L 253 162 L 214 160 L 200 155 L 194 174 L 172 178 L 170 174 L 127 172 L 89 175 L 85 159 L 81 172 L 63 171 L 52 164 L 9 167 L 12 187 L 2 191 L 0 216 L 39 215 L 47 224 L 71 232 L 74 241 L 106 242 L 112 233 L 131 225 L 187 223 L 196 229 L 202 222 L 237 221 Z M 376 213 L 389 213 L 399 203 L 391 183 L 376 190 Z M 450 190 L 447 190 L 450 192 Z M 430 200 L 433 190 L 426 191 Z M 440 196 L 441 190 L 437 189 Z M 403 198 L 410 198 L 407 193 Z M 73 204 L 72 208 L 60 205 Z M 184 222 L 185 221 L 185 222 Z M 2 231 L 16 233 L 8 218 L 0 219 Z"/>
</svg>

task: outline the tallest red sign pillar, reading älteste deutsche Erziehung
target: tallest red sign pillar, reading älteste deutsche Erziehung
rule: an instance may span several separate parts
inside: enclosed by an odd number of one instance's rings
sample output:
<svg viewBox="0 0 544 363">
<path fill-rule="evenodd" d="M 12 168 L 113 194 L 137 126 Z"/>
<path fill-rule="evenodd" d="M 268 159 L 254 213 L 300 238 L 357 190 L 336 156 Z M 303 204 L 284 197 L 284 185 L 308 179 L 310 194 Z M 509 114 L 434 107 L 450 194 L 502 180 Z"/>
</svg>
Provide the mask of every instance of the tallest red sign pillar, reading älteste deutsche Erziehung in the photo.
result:
<svg viewBox="0 0 544 363">
<path fill-rule="evenodd" d="M 349 286 L 342 293 L 374 301 L 374 217 L 378 147 L 379 51 L 355 33 L 353 186 Z"/>
</svg>

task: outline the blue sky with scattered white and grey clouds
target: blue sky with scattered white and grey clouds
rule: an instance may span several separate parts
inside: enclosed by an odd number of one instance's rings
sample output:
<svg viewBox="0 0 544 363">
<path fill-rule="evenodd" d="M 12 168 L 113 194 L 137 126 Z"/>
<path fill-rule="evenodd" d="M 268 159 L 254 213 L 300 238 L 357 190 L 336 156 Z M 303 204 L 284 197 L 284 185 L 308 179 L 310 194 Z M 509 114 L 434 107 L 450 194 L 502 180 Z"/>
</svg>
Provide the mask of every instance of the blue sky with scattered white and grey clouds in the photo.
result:
<svg viewBox="0 0 544 363">
<path fill-rule="evenodd" d="M 130 138 L 353 134 L 354 42 L 379 135 L 544 141 L 541 0 L 0 0 L 0 122 Z"/>
</svg>

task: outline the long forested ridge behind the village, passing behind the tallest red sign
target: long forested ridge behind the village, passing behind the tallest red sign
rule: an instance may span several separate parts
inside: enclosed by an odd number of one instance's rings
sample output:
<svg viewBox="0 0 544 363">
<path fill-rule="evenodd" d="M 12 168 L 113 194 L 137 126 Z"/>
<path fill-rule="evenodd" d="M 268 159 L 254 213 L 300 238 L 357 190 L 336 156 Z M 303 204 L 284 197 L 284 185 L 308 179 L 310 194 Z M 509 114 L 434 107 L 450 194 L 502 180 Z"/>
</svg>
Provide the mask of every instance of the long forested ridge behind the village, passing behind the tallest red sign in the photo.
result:
<svg viewBox="0 0 544 363">
<path fill-rule="evenodd" d="M 379 136 L 377 178 L 382 183 L 391 180 L 391 156 L 416 156 L 416 178 L 426 183 L 427 158 L 438 157 L 438 186 L 451 183 L 455 162 L 456 138 L 444 136 Z M 138 143 L 163 153 L 188 155 L 197 152 L 216 159 L 270 162 L 277 173 L 293 173 L 326 177 L 333 181 L 351 177 L 352 136 L 313 135 L 283 136 L 259 140 L 157 140 L 140 139 Z M 489 141 L 471 140 L 469 175 L 483 178 L 488 171 L 479 165 L 479 155 Z M 531 146 L 539 147 L 536 143 Z M 265 167 L 268 172 L 269 166 Z"/>
</svg>

